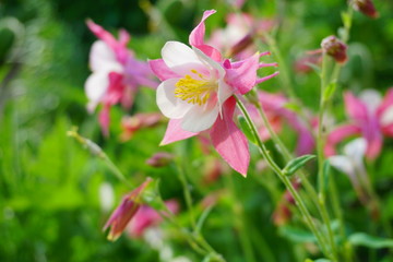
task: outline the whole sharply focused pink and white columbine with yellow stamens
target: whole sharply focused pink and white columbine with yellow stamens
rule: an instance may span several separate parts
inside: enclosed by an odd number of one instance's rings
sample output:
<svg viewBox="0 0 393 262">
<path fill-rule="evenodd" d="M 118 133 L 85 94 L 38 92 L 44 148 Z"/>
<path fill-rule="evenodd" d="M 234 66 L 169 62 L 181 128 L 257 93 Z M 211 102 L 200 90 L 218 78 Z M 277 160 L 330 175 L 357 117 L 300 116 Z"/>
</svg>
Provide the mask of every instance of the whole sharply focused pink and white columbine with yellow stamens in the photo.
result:
<svg viewBox="0 0 393 262">
<path fill-rule="evenodd" d="M 246 94 L 255 84 L 277 73 L 257 79 L 260 55 L 231 62 L 223 60 L 215 48 L 204 44 L 204 21 L 215 13 L 205 11 L 190 34 L 192 48 L 168 41 L 163 59 L 150 61 L 153 72 L 163 81 L 157 87 L 157 105 L 170 118 L 162 144 L 187 139 L 210 129 L 214 147 L 238 172 L 246 176 L 250 155 L 246 136 L 233 116 L 235 93 Z M 266 55 L 266 53 L 262 53 Z"/>
</svg>

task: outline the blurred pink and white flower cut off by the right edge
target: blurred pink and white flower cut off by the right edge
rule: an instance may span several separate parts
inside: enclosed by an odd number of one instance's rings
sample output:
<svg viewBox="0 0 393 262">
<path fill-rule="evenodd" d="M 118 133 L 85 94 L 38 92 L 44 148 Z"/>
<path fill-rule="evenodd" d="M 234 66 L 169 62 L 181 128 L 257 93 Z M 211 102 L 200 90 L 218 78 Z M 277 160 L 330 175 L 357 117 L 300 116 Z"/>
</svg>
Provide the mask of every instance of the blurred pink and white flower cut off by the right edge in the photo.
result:
<svg viewBox="0 0 393 262">
<path fill-rule="evenodd" d="M 335 146 L 352 135 L 367 141 L 366 156 L 374 159 L 381 152 L 383 135 L 393 136 L 393 88 L 382 99 L 376 91 L 365 91 L 360 98 L 347 92 L 344 95 L 349 123 L 334 129 L 326 139 L 325 155 L 335 155 Z"/>
</svg>

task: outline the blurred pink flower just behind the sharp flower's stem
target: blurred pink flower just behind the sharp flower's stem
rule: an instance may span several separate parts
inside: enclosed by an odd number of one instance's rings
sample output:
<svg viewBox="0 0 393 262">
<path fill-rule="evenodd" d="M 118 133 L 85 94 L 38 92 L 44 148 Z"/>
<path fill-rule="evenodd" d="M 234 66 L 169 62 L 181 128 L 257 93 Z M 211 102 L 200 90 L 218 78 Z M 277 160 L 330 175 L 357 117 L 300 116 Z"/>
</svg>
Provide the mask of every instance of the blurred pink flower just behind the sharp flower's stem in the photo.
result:
<svg viewBox="0 0 393 262">
<path fill-rule="evenodd" d="M 279 94 L 270 94 L 267 92 L 258 92 L 259 102 L 275 132 L 281 132 L 283 122 L 287 122 L 298 134 L 298 144 L 296 146 L 297 155 L 305 155 L 312 152 L 314 147 L 314 139 L 311 131 L 295 112 L 285 108 L 288 99 Z M 258 114 L 257 108 L 252 105 L 249 106 L 249 111 L 253 118 L 255 126 L 259 130 L 262 140 L 269 140 L 270 133 L 263 124 L 261 116 Z"/>
</svg>

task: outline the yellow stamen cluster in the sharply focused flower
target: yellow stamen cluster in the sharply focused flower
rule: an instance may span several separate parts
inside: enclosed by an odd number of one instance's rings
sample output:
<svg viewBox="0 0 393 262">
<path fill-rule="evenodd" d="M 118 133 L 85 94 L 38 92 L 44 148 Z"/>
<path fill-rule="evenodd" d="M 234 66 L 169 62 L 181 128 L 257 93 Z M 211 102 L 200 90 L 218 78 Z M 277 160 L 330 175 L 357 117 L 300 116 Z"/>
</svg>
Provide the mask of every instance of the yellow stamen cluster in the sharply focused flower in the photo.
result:
<svg viewBox="0 0 393 262">
<path fill-rule="evenodd" d="M 191 75 L 186 74 L 184 78 L 175 84 L 175 96 L 187 100 L 189 104 L 202 106 L 206 104 L 212 91 L 216 88 L 217 84 L 206 80 L 196 70 L 191 70 L 191 72 L 199 76 L 199 79 L 193 79 Z"/>
</svg>

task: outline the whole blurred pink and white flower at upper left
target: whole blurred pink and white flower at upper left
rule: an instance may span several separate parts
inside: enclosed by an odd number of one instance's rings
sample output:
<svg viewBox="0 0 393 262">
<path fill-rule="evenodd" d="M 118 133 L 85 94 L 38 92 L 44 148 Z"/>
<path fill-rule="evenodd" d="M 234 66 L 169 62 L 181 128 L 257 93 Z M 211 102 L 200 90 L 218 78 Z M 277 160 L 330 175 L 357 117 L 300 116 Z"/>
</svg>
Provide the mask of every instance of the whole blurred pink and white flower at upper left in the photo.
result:
<svg viewBox="0 0 393 262">
<path fill-rule="evenodd" d="M 108 135 L 110 107 L 120 103 L 130 108 L 140 85 L 155 88 L 157 83 L 152 80 L 147 63 L 138 61 L 127 49 L 130 35 L 126 31 L 120 31 L 117 40 L 93 21 L 87 21 L 87 26 L 99 38 L 90 53 L 93 73 L 85 82 L 87 109 L 93 111 L 98 104 L 103 105 L 98 119 L 103 133 Z"/>
</svg>

